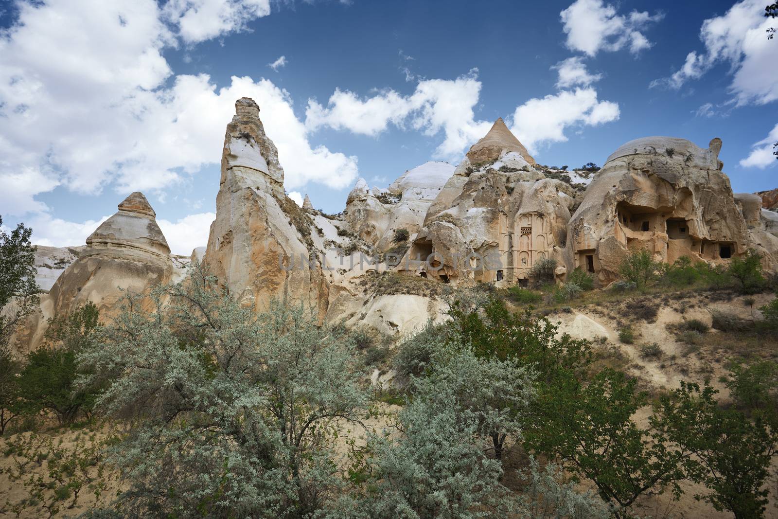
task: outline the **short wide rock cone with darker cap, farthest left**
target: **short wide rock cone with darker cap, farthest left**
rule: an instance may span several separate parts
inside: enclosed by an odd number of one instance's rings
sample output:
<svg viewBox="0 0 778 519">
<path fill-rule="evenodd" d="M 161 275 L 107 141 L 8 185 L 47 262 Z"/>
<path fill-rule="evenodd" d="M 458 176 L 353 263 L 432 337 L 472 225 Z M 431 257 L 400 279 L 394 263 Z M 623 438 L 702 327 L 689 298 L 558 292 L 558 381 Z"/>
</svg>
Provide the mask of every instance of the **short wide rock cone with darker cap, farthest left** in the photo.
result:
<svg viewBox="0 0 778 519">
<path fill-rule="evenodd" d="M 40 298 L 40 310 L 30 316 L 26 334 L 18 338 L 19 349 L 40 345 L 51 317 L 67 315 L 87 302 L 96 304 L 101 317 L 110 317 L 122 290 L 142 294 L 173 281 L 177 269 L 145 196 L 132 193 L 118 209 L 86 239 L 79 258 Z"/>
</svg>

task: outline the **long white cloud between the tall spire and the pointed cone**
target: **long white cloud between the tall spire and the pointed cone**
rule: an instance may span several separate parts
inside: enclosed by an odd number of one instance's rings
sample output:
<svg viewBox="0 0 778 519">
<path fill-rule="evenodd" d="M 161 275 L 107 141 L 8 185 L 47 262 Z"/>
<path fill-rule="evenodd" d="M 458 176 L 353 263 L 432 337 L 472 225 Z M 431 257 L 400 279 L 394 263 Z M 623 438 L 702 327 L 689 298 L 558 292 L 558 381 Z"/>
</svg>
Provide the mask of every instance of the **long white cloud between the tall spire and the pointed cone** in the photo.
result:
<svg viewBox="0 0 778 519">
<path fill-rule="evenodd" d="M 373 97 L 360 98 L 356 93 L 336 89 L 327 107 L 308 101 L 306 126 L 314 131 L 323 126 L 375 136 L 389 124 L 414 128 L 424 135 L 445 135 L 435 151 L 436 157 L 452 157 L 464 146 L 489 131 L 489 122 L 474 121 L 473 107 L 478 104 L 481 82 L 473 69 L 457 79 L 425 79 L 414 93 L 403 96 L 391 89 Z"/>
</svg>

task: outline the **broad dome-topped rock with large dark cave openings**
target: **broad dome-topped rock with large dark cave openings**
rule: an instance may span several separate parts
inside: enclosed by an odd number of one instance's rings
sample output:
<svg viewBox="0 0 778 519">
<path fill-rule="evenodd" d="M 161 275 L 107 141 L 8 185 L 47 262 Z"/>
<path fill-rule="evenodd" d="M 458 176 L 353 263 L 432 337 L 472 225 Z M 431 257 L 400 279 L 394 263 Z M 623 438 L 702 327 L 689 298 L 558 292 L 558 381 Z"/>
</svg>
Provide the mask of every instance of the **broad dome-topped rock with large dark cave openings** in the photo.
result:
<svg viewBox="0 0 778 519">
<path fill-rule="evenodd" d="M 657 261 L 720 262 L 748 250 L 746 220 L 718 160 L 721 140 L 702 149 L 684 139 L 647 137 L 608 157 L 569 223 L 566 266 L 618 277 L 627 251 Z M 755 219 L 752 201 L 745 213 Z M 742 205 L 742 202 L 741 202 Z"/>
</svg>

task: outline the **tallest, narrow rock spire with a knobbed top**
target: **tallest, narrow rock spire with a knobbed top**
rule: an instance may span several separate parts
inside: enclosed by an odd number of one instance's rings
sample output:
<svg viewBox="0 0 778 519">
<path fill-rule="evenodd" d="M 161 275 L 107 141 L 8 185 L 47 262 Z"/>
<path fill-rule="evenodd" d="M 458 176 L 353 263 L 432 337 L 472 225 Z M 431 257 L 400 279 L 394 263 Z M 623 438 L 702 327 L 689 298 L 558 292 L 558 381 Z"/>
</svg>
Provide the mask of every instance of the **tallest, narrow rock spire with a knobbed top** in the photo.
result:
<svg viewBox="0 0 778 519">
<path fill-rule="evenodd" d="M 278 151 L 257 104 L 244 97 L 235 108 L 203 264 L 245 306 L 261 310 L 270 298 L 286 297 L 323 317 L 328 283 L 321 262 L 308 261 L 313 220 L 284 194 Z"/>
</svg>

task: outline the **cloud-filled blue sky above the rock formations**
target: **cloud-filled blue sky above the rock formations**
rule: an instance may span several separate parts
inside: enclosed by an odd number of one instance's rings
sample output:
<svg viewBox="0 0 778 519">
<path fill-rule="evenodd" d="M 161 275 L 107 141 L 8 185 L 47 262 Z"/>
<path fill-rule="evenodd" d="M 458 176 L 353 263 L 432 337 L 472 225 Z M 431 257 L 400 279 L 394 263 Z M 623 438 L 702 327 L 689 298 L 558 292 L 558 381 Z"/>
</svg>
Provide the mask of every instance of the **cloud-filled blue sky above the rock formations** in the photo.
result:
<svg viewBox="0 0 778 519">
<path fill-rule="evenodd" d="M 693 3 L 8 2 L 0 214 L 40 244 L 82 244 L 139 189 L 187 254 L 205 244 L 244 95 L 287 191 L 327 212 L 356 177 L 457 163 L 496 117 L 555 166 L 602 164 L 647 135 L 720 137 L 734 191 L 776 188 L 764 0 Z"/>
</svg>

